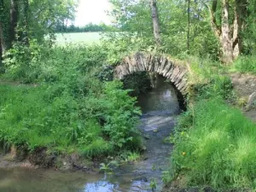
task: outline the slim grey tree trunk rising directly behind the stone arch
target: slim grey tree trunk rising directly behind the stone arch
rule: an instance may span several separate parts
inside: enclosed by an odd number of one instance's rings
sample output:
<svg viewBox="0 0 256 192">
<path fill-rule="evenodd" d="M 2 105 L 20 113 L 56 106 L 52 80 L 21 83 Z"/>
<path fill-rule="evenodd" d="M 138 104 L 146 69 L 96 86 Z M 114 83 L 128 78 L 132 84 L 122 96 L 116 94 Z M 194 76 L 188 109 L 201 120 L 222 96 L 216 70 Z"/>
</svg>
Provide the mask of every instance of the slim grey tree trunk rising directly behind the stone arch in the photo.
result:
<svg viewBox="0 0 256 192">
<path fill-rule="evenodd" d="M 154 40 L 157 46 L 160 46 L 160 22 L 159 22 L 159 15 L 156 5 L 156 0 L 150 0 L 150 8 L 151 8 L 151 16 L 153 21 L 153 28 L 154 28 Z"/>
</svg>

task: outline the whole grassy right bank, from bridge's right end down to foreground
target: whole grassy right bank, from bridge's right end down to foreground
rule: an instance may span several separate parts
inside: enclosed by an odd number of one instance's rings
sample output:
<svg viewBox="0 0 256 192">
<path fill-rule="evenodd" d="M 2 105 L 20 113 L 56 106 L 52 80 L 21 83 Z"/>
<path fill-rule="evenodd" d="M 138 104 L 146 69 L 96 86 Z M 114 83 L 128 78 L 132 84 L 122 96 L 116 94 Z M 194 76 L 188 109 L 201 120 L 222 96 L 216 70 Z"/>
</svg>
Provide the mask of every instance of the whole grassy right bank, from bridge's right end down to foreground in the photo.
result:
<svg viewBox="0 0 256 192">
<path fill-rule="evenodd" d="M 171 137 L 175 144 L 172 167 L 163 179 L 182 189 L 253 190 L 256 125 L 240 109 L 227 104 L 236 100 L 232 84 L 214 68 L 192 64 L 191 79 L 198 77 L 197 85 L 191 90 L 188 111 L 178 119 Z"/>
</svg>

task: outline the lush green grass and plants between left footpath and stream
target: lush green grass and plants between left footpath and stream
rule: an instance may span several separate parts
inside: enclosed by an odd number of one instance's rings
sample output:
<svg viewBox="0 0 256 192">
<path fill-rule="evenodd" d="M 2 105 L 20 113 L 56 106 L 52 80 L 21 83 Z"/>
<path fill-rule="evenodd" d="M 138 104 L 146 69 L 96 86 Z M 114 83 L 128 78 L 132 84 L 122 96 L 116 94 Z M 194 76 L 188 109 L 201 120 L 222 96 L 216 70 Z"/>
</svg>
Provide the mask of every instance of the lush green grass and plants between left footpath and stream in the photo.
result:
<svg viewBox="0 0 256 192">
<path fill-rule="evenodd" d="M 140 148 L 135 99 L 118 82 L 98 82 L 97 87 L 102 89 L 99 96 L 93 90 L 90 95 L 73 96 L 73 90 L 68 93 L 69 88 L 60 83 L 0 84 L 0 143 L 32 151 L 42 147 L 61 153 L 75 150 L 87 157 Z"/>
</svg>

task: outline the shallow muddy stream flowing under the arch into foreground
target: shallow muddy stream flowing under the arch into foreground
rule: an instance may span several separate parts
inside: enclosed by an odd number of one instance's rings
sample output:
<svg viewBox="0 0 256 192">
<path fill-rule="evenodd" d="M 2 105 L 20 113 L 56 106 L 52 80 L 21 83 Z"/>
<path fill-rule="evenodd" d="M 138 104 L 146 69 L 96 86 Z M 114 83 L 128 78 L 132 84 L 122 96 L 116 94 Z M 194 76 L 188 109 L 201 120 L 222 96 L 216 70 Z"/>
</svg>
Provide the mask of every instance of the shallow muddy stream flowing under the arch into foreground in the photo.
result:
<svg viewBox="0 0 256 192">
<path fill-rule="evenodd" d="M 139 129 L 147 148 L 143 160 L 115 170 L 113 175 L 49 170 L 0 170 L 1 192 L 111 192 L 151 191 L 150 181 L 160 191 L 161 172 L 166 170 L 172 145 L 164 143 L 179 113 L 177 96 L 171 84 L 158 82 L 154 90 L 139 96 L 143 109 Z"/>
</svg>

